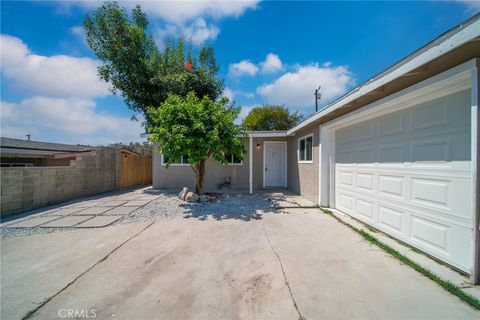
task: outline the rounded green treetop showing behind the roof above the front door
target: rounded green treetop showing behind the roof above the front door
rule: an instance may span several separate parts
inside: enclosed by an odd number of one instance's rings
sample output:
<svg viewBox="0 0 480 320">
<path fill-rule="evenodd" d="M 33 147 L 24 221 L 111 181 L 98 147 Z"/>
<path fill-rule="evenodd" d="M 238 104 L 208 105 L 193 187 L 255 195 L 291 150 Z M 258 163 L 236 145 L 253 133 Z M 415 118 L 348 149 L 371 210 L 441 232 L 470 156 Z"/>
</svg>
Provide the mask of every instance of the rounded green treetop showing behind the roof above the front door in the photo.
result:
<svg viewBox="0 0 480 320">
<path fill-rule="evenodd" d="M 290 113 L 285 106 L 265 105 L 250 110 L 243 120 L 243 126 L 252 131 L 288 130 L 302 119 L 298 111 Z"/>
</svg>

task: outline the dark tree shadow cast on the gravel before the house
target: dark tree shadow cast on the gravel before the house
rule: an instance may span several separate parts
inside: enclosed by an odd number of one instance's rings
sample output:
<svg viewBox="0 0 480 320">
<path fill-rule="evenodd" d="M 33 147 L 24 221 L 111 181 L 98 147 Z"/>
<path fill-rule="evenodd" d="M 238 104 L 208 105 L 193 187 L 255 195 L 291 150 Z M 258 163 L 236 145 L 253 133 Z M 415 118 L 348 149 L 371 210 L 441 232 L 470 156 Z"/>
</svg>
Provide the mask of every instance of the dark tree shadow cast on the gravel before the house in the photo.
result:
<svg viewBox="0 0 480 320">
<path fill-rule="evenodd" d="M 217 221 L 234 219 L 241 221 L 260 220 L 264 214 L 279 213 L 268 195 L 223 194 L 206 203 L 182 203 L 184 218 Z"/>
</svg>

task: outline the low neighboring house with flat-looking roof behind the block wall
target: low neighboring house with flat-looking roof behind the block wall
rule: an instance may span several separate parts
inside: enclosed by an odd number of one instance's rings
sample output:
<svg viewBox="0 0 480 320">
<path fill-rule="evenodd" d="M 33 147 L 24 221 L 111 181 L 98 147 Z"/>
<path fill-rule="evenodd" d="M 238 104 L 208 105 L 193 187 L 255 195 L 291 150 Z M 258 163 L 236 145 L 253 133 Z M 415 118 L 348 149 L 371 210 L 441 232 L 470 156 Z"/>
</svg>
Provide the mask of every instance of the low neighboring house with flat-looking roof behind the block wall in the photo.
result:
<svg viewBox="0 0 480 320">
<path fill-rule="evenodd" d="M 60 143 L 0 138 L 1 167 L 68 166 L 78 155 L 91 153 L 91 147 Z"/>
</svg>

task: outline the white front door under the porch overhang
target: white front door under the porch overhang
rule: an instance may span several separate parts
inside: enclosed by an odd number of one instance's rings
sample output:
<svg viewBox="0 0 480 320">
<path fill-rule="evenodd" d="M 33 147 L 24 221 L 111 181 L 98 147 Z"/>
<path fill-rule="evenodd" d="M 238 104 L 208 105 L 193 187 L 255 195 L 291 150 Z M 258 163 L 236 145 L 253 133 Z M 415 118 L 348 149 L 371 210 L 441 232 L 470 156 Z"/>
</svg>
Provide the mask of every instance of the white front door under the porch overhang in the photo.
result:
<svg viewBox="0 0 480 320">
<path fill-rule="evenodd" d="M 263 153 L 265 187 L 287 187 L 286 149 L 285 141 L 265 141 Z"/>
</svg>

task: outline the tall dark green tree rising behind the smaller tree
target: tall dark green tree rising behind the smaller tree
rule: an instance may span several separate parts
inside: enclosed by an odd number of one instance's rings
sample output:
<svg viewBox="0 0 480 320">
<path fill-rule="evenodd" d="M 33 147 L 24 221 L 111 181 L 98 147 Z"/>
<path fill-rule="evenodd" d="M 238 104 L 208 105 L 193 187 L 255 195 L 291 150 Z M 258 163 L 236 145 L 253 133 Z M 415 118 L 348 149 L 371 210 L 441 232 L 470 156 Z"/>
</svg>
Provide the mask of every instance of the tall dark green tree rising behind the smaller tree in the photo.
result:
<svg viewBox="0 0 480 320">
<path fill-rule="evenodd" d="M 150 124 L 147 109 L 159 107 L 168 94 L 216 100 L 224 84 L 216 77 L 218 67 L 211 47 L 201 47 L 196 56 L 191 43 L 167 41 L 159 51 L 148 32 L 148 19 L 140 6 L 129 14 L 117 2 L 106 2 L 86 15 L 87 43 L 102 64 L 98 73 L 120 93 L 127 106 L 140 112 Z"/>
</svg>

